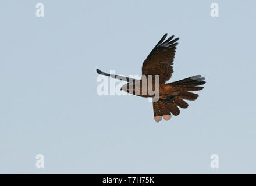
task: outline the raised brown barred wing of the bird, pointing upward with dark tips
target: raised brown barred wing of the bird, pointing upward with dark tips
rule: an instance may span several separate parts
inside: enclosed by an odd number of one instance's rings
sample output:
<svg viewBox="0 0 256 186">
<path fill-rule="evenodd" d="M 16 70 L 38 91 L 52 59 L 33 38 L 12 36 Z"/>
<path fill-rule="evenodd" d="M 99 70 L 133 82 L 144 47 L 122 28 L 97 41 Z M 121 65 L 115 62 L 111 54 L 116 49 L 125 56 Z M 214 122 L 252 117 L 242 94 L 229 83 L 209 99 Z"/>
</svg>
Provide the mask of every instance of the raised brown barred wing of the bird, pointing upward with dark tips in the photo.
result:
<svg viewBox="0 0 256 186">
<path fill-rule="evenodd" d="M 167 33 L 163 35 L 162 39 L 155 45 L 150 54 L 145 59 L 142 66 L 142 74 L 144 75 L 159 75 L 159 83 L 165 83 L 172 77 L 173 60 L 176 52 L 177 40 L 174 35 L 169 37 L 166 41 Z M 163 42 L 164 41 L 164 42 Z"/>
</svg>

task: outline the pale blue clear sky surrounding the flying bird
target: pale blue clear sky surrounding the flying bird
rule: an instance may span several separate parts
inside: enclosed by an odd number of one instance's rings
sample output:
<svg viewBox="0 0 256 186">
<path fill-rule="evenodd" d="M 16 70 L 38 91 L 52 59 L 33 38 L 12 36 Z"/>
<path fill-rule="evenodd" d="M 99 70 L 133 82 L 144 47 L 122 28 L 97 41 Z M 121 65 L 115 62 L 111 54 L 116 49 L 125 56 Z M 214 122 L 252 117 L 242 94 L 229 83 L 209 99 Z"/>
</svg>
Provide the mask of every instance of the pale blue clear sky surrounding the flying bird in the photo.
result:
<svg viewBox="0 0 256 186">
<path fill-rule="evenodd" d="M 35 5 L 44 3 L 44 17 Z M 219 17 L 210 5 L 219 4 Z M 255 1 L 1 1 L 0 173 L 256 173 Z M 155 123 L 138 96 L 97 95 L 95 69 L 141 74 L 180 37 L 170 81 L 207 83 Z M 35 167 L 44 155 L 45 168 Z M 219 169 L 210 167 L 218 154 Z"/>
</svg>

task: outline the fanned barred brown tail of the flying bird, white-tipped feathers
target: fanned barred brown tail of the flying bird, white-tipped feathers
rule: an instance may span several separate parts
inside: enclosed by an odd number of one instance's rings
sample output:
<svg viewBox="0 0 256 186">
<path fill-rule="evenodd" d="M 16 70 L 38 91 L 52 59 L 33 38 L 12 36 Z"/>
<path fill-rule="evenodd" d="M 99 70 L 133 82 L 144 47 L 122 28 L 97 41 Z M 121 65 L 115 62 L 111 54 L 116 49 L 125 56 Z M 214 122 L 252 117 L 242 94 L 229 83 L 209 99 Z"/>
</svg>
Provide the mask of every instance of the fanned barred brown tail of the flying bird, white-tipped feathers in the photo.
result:
<svg viewBox="0 0 256 186">
<path fill-rule="evenodd" d="M 191 93 L 189 91 L 199 91 L 204 87 L 200 85 L 205 84 L 205 78 L 200 75 L 185 78 L 183 80 L 168 83 L 176 90 L 177 94 L 170 96 L 167 99 L 159 99 L 157 102 L 153 102 L 154 119 L 159 122 L 163 119 L 169 120 L 171 114 L 177 116 L 180 113 L 180 108 L 187 108 L 189 104 L 183 99 L 194 101 L 198 98 L 198 94 Z"/>
</svg>

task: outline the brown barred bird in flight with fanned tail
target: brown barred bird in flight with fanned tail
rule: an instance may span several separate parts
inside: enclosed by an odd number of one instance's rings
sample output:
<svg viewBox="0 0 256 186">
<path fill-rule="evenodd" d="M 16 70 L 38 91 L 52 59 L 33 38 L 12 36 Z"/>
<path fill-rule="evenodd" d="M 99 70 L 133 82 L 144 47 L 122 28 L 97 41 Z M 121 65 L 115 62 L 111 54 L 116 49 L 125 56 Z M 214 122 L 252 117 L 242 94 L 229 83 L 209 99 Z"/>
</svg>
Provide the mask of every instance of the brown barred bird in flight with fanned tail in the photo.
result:
<svg viewBox="0 0 256 186">
<path fill-rule="evenodd" d="M 197 99 L 199 95 L 194 94 L 191 91 L 202 90 L 204 87 L 201 85 L 206 83 L 204 81 L 205 78 L 201 77 L 201 75 L 191 76 L 179 81 L 166 83 L 172 77 L 173 61 L 175 58 L 176 46 L 178 45 L 177 41 L 179 40 L 179 38 L 175 38 L 174 35 L 165 40 L 166 37 L 167 33 L 163 35 L 161 40 L 157 45 L 155 45 L 150 54 L 144 60 L 142 66 L 142 77 L 146 79 L 146 82 L 149 81 L 150 76 L 152 77 L 152 84 L 148 83 L 147 88 L 151 86 L 152 89 L 156 89 L 158 85 L 159 90 L 157 98 L 155 98 L 154 95 L 148 94 L 148 92 L 146 92 L 146 94 L 142 94 L 143 78 L 136 80 L 129 77 L 104 73 L 101 70 L 96 69 L 98 74 L 129 82 L 123 85 L 121 88 L 122 91 L 141 97 L 154 97 L 152 104 L 154 120 L 156 122 L 161 121 L 162 118 L 168 121 L 171 119 L 172 115 L 179 115 L 179 108 L 186 109 L 189 106 L 184 99 L 189 101 Z M 159 83 L 157 85 L 155 85 L 155 82 L 157 81 L 155 80 L 156 77 L 159 78 Z"/>
</svg>

